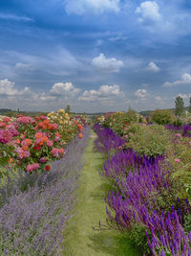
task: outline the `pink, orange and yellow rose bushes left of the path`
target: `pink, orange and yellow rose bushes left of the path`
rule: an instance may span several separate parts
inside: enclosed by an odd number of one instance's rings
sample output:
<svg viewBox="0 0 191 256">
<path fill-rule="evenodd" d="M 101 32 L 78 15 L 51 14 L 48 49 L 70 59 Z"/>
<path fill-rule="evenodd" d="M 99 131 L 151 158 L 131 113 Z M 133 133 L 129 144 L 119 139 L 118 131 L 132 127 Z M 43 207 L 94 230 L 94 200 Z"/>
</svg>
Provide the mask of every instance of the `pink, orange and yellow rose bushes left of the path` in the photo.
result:
<svg viewBox="0 0 191 256">
<path fill-rule="evenodd" d="M 86 123 L 81 117 L 70 117 L 63 109 L 48 116 L 16 119 L 3 117 L 0 121 L 0 165 L 50 171 L 50 162 L 63 157 L 68 143 L 77 135 L 82 137 Z"/>
</svg>

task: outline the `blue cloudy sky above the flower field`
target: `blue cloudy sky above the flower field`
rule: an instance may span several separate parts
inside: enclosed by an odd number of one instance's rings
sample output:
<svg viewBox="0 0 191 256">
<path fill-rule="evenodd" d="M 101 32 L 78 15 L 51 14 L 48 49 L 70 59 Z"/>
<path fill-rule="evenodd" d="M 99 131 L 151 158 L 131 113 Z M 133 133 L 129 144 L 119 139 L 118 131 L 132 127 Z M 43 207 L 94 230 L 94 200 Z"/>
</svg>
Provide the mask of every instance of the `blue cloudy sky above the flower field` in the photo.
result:
<svg viewBox="0 0 191 256">
<path fill-rule="evenodd" d="M 190 24 L 189 0 L 0 0 L 0 108 L 188 105 Z"/>
</svg>

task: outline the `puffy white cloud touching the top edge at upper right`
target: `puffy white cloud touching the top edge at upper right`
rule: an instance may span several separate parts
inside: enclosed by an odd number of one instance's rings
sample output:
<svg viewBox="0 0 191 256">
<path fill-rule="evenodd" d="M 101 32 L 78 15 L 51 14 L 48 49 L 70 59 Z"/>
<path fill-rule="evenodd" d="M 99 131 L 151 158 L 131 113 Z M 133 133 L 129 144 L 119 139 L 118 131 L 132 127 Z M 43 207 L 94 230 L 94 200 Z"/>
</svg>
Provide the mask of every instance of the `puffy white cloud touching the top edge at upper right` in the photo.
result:
<svg viewBox="0 0 191 256">
<path fill-rule="evenodd" d="M 136 9 L 136 13 L 140 15 L 138 21 L 158 21 L 160 19 L 159 5 L 155 1 L 142 2 Z"/>
</svg>

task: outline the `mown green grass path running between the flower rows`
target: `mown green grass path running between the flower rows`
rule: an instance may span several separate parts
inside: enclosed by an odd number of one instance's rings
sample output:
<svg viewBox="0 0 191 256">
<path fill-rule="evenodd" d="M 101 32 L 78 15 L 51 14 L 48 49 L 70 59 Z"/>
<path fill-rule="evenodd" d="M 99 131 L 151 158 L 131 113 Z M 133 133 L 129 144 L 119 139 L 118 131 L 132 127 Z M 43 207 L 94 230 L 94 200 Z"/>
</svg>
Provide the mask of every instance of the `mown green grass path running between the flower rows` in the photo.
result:
<svg viewBox="0 0 191 256">
<path fill-rule="evenodd" d="M 77 214 L 71 219 L 65 231 L 65 256 L 138 256 L 138 251 L 128 244 L 115 230 L 93 230 L 98 222 L 105 223 L 105 201 L 108 188 L 98 175 L 105 157 L 94 151 L 96 133 L 92 131 L 85 151 L 86 163 L 79 178 L 76 191 Z"/>
</svg>

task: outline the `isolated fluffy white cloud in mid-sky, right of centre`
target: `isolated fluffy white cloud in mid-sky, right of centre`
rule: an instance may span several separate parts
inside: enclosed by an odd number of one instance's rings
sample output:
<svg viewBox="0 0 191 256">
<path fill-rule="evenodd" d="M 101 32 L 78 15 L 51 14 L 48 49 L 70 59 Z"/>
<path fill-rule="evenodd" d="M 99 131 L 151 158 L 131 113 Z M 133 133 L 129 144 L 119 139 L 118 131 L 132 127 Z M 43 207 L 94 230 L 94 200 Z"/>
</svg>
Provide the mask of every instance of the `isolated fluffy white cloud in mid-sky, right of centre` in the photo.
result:
<svg viewBox="0 0 191 256">
<path fill-rule="evenodd" d="M 117 60 L 117 58 L 105 58 L 104 54 L 100 54 L 98 57 L 93 58 L 92 64 L 100 70 L 117 73 L 123 66 L 123 61 Z"/>
</svg>

